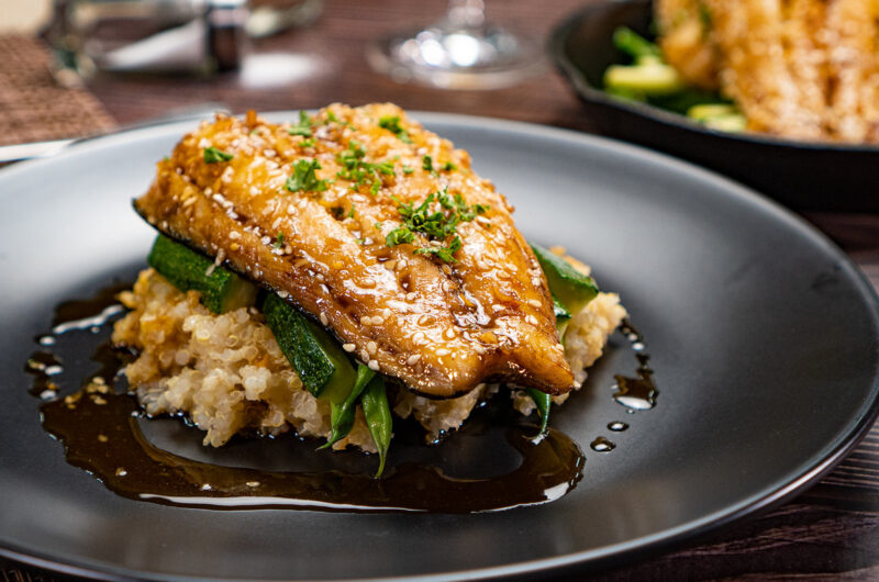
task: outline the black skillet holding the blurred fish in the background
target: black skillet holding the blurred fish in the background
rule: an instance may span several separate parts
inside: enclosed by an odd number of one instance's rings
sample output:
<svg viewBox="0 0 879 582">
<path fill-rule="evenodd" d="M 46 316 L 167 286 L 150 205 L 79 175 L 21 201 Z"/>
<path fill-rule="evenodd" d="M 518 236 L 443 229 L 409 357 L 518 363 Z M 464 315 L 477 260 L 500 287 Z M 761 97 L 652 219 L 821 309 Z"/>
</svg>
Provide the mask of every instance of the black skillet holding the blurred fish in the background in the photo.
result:
<svg viewBox="0 0 879 582">
<path fill-rule="evenodd" d="M 714 132 L 683 115 L 602 91 L 604 70 L 622 59 L 613 31 L 626 25 L 649 35 L 650 21 L 649 0 L 599 0 L 553 32 L 555 61 L 602 133 L 717 170 L 791 208 L 879 211 L 877 146 Z"/>
</svg>

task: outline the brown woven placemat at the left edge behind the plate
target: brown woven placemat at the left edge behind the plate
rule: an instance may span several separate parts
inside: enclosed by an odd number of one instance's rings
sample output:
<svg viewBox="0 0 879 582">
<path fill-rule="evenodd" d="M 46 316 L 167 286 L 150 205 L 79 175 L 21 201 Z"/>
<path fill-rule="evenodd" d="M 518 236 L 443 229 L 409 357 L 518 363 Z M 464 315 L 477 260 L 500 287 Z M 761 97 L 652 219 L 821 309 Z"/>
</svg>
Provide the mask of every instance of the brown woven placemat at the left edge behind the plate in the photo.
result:
<svg viewBox="0 0 879 582">
<path fill-rule="evenodd" d="M 0 145 L 81 137 L 115 127 L 82 87 L 62 87 L 38 38 L 0 35 Z"/>
</svg>

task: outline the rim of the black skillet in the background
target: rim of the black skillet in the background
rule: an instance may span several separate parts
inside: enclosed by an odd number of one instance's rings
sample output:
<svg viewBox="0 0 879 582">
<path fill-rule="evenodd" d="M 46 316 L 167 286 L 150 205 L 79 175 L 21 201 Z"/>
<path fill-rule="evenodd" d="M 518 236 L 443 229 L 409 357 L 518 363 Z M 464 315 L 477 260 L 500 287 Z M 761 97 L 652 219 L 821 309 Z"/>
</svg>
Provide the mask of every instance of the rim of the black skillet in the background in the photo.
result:
<svg viewBox="0 0 879 582">
<path fill-rule="evenodd" d="M 636 0 L 636 2 L 637 1 L 652 4 L 652 0 Z M 621 5 L 625 3 L 634 4 L 636 2 L 630 2 L 628 0 L 597 0 L 589 5 L 580 8 L 574 13 L 563 18 L 549 33 L 547 46 L 553 60 L 561 72 L 563 77 L 565 77 L 565 79 L 568 81 L 568 85 L 572 86 L 574 92 L 577 93 L 580 99 L 594 104 L 600 104 L 602 107 L 612 108 L 617 111 L 637 115 L 639 117 L 647 117 L 665 126 L 674 127 L 676 130 L 683 130 L 693 135 L 716 137 L 757 146 L 781 147 L 785 149 L 804 149 L 809 152 L 835 154 L 872 154 L 879 158 L 879 145 L 808 142 L 776 137 L 756 132 L 736 134 L 711 130 L 697 122 L 689 121 L 685 115 L 672 113 L 647 103 L 613 98 L 609 93 L 594 87 L 586 79 L 586 76 L 582 74 L 580 68 L 570 60 L 567 51 L 565 51 L 565 43 L 570 36 L 570 32 L 581 22 L 589 19 L 592 13 L 607 10 L 612 5 Z"/>
</svg>

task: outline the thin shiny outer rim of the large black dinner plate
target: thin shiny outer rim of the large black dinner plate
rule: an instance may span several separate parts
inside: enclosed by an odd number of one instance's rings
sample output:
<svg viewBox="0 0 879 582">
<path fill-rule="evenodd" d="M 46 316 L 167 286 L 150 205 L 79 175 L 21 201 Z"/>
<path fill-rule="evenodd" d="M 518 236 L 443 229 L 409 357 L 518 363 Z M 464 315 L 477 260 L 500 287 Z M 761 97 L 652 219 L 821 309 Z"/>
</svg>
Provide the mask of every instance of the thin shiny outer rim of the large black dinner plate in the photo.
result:
<svg viewBox="0 0 879 582">
<path fill-rule="evenodd" d="M 296 111 L 271 111 L 260 113 L 267 119 L 285 119 L 296 114 Z M 561 139 L 569 143 L 585 145 L 589 148 L 598 148 L 614 153 L 622 157 L 646 159 L 652 164 L 663 165 L 671 168 L 679 175 L 689 175 L 697 180 L 710 182 L 717 187 L 716 191 L 710 195 L 737 199 L 743 203 L 756 206 L 763 213 L 768 213 L 772 219 L 781 221 L 805 236 L 837 261 L 845 265 L 852 275 L 852 282 L 860 291 L 863 300 L 871 307 L 874 321 L 874 334 L 879 337 L 879 294 L 869 282 L 864 272 L 855 262 L 836 246 L 824 233 L 809 224 L 804 219 L 798 216 L 792 211 L 787 210 L 781 204 L 757 193 L 755 190 L 742 186 L 741 183 L 715 174 L 711 170 L 699 167 L 694 164 L 681 160 L 668 154 L 655 152 L 653 149 L 621 142 L 617 139 L 586 134 L 574 130 L 539 125 L 520 121 L 511 121 L 499 117 L 486 117 L 478 115 L 467 115 L 458 113 L 443 113 L 429 111 L 408 111 L 408 114 L 425 126 L 438 125 L 463 125 L 467 127 L 482 127 L 491 132 L 516 133 L 520 135 L 541 136 L 550 139 Z M 32 168 L 51 167 L 58 159 L 88 155 L 93 150 L 110 148 L 120 141 L 149 139 L 152 137 L 164 136 L 176 128 L 191 127 L 199 120 L 178 121 L 165 124 L 151 125 L 148 127 L 132 128 L 114 132 L 104 136 L 84 141 L 71 145 L 60 154 L 51 158 L 27 160 L 15 164 L 8 168 L 0 169 L 0 201 L 5 195 L 12 195 L 2 189 L 3 182 L 16 177 L 20 174 L 36 171 Z M 182 135 L 182 131 L 179 132 Z M 175 135 L 177 135 L 175 133 Z M 879 351 L 879 348 L 877 349 Z M 806 468 L 783 482 L 780 486 L 771 488 L 771 491 L 764 490 L 750 497 L 741 500 L 736 504 L 724 507 L 721 511 L 702 516 L 699 519 L 690 521 L 677 527 L 664 529 L 661 531 L 633 538 L 623 542 L 592 548 L 589 550 L 577 551 L 565 556 L 553 558 L 542 558 L 512 564 L 486 567 L 470 570 L 459 570 L 445 573 L 418 574 L 405 577 L 405 580 L 416 580 L 420 582 L 433 582 L 438 580 L 483 580 L 491 578 L 516 578 L 528 577 L 535 573 L 558 575 L 565 572 L 594 571 L 612 566 L 623 558 L 642 559 L 650 555 L 667 551 L 687 540 L 692 540 L 703 536 L 709 531 L 716 530 L 734 522 L 742 521 L 753 514 L 770 510 L 781 503 L 792 499 L 803 489 L 813 484 L 821 477 L 831 471 L 845 456 L 852 451 L 866 436 L 869 428 L 879 417 L 879 376 L 872 379 L 871 390 L 872 400 L 866 400 L 858 408 L 859 418 L 856 423 L 850 423 L 855 417 L 849 418 L 849 428 L 839 437 L 838 443 L 821 458 L 809 459 Z M 842 433 L 842 430 L 841 430 Z M 813 462 L 814 461 L 814 462 Z M 85 575 L 99 580 L 114 580 L 119 577 L 145 580 L 189 580 L 201 581 L 210 580 L 201 577 L 191 575 L 170 575 L 156 572 L 145 572 L 120 568 L 111 564 L 89 563 L 77 561 L 76 559 L 66 560 L 59 557 L 41 555 L 38 551 L 31 551 L 15 547 L 14 544 L 7 544 L 0 540 L 0 557 L 9 558 L 24 564 L 44 568 L 56 572 L 74 575 Z M 245 580 L 245 579 L 233 579 Z M 347 580 L 378 580 L 378 579 L 347 579 Z M 387 578 L 382 579 L 387 580 Z"/>
</svg>

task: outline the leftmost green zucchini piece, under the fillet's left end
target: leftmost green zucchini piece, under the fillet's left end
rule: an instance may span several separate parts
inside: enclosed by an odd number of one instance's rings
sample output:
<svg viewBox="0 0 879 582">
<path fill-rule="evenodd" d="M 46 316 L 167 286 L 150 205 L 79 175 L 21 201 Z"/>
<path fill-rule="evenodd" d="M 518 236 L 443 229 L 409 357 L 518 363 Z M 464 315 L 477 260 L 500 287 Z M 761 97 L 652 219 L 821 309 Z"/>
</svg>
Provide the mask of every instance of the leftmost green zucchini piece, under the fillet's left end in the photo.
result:
<svg viewBox="0 0 879 582">
<path fill-rule="evenodd" d="M 256 301 L 255 284 L 214 267 L 208 257 L 167 236 L 156 238 L 147 262 L 177 289 L 200 292 L 202 304 L 214 313 L 246 307 Z"/>
</svg>

